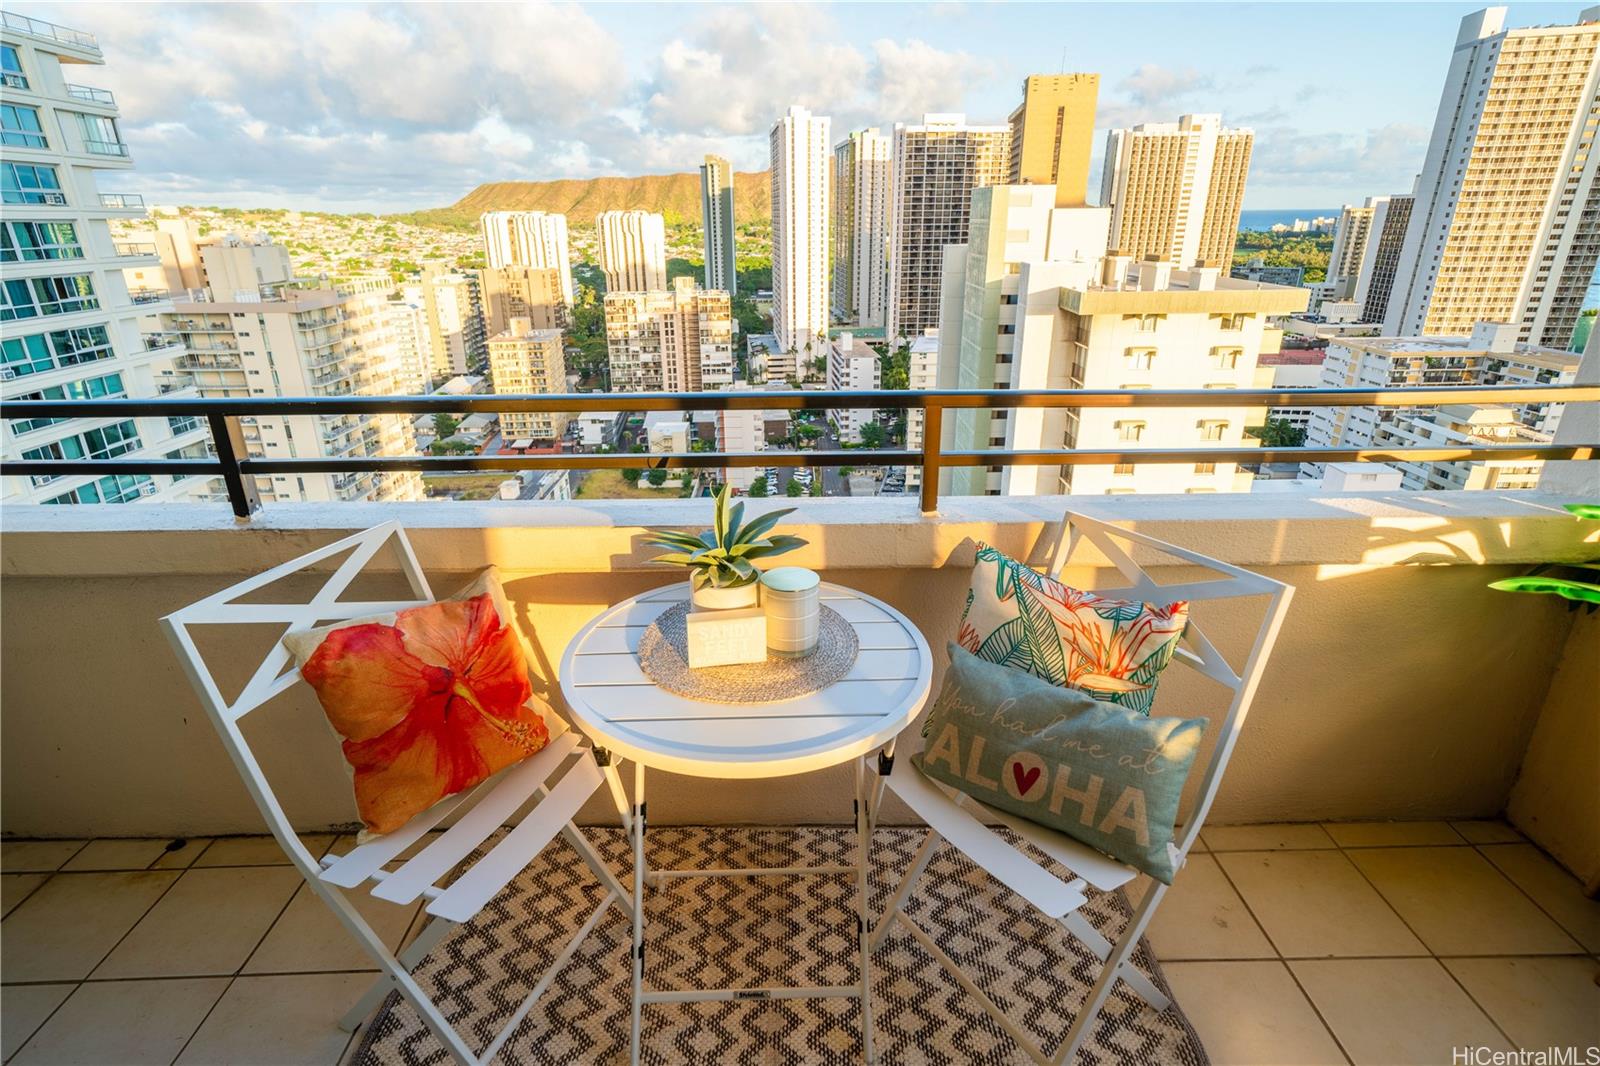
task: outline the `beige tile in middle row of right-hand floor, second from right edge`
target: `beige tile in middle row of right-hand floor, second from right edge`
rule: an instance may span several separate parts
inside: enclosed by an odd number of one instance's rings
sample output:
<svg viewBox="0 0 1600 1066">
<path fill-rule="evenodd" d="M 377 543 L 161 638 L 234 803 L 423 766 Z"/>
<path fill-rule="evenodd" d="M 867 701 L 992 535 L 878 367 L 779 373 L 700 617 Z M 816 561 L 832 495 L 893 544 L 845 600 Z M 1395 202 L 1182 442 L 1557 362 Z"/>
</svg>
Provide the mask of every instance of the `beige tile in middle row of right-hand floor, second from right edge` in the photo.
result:
<svg viewBox="0 0 1600 1066">
<path fill-rule="evenodd" d="M 1347 855 L 1437 956 L 1579 951 L 1477 848 L 1360 848 Z"/>
</svg>

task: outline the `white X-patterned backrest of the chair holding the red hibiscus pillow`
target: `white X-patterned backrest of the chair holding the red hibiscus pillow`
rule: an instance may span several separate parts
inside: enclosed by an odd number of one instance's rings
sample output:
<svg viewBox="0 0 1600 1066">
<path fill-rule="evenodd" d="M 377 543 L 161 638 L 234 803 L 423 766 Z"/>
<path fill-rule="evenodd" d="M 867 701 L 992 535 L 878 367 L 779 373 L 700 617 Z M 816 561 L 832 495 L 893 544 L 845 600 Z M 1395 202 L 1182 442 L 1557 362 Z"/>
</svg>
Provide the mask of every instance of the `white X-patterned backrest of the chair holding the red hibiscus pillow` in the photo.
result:
<svg viewBox="0 0 1600 1066">
<path fill-rule="evenodd" d="M 339 599 L 350 587 L 350 583 L 360 576 L 379 549 L 390 541 L 394 541 L 398 552 L 400 570 L 411 587 L 413 599 Z M 344 562 L 341 562 L 333 573 L 328 575 L 322 586 L 309 599 L 306 599 L 306 602 L 235 602 L 251 592 L 256 592 L 258 589 L 274 584 L 275 581 L 307 571 L 317 563 L 333 560 L 346 552 L 349 552 L 349 555 Z M 206 714 L 211 717 L 211 723 L 222 738 L 222 746 L 227 749 L 229 757 L 238 768 L 238 773 L 245 781 L 245 787 L 250 791 L 250 797 L 256 802 L 262 818 L 267 820 L 267 826 L 272 829 L 272 836 L 277 837 L 278 845 L 283 847 L 285 853 L 288 853 L 288 856 L 307 877 L 315 876 L 317 858 L 312 856 L 310 852 L 301 844 L 299 836 L 290 826 L 288 816 L 283 813 L 283 807 L 278 804 L 277 794 L 272 791 L 261 763 L 256 760 L 256 754 L 250 747 L 250 741 L 240 730 L 240 720 L 246 714 L 261 707 L 274 696 L 293 688 L 301 680 L 299 671 L 293 669 L 288 651 L 283 648 L 282 642 L 275 640 L 266 658 L 254 667 L 254 671 L 251 671 L 250 680 L 245 683 L 243 690 L 240 690 L 238 696 L 227 699 L 218 685 L 216 675 L 211 672 L 206 656 L 202 655 L 200 648 L 195 645 L 190 627 L 282 624 L 282 639 L 283 634 L 296 629 L 310 629 L 318 624 L 344 621 L 349 618 L 363 618 L 368 615 L 387 615 L 408 607 L 429 603 L 432 599 L 434 594 L 429 589 L 427 578 L 422 575 L 421 565 L 418 565 L 416 554 L 411 551 L 411 543 L 406 539 L 405 530 L 402 530 L 397 522 L 386 522 L 384 525 L 373 527 L 354 536 L 334 541 L 325 547 L 318 547 L 314 552 L 307 552 L 299 559 L 293 559 L 253 578 L 246 578 L 235 586 L 173 611 L 162 619 L 162 629 L 166 632 L 166 639 L 178 653 L 178 661 L 182 664 L 184 674 L 189 677 L 189 683 L 194 685 L 195 695 L 200 696 L 200 703 L 205 706 Z"/>
</svg>

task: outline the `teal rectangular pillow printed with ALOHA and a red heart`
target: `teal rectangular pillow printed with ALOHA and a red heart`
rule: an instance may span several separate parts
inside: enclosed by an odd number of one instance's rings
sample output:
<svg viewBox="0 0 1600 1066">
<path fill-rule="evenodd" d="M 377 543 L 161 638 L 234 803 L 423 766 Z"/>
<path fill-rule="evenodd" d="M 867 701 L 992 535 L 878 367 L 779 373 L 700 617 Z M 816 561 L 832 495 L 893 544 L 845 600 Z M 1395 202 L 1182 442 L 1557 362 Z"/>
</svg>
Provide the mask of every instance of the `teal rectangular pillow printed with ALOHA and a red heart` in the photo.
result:
<svg viewBox="0 0 1600 1066">
<path fill-rule="evenodd" d="M 1205 719 L 1154 719 L 950 645 L 912 762 L 934 781 L 1173 884 Z"/>
</svg>

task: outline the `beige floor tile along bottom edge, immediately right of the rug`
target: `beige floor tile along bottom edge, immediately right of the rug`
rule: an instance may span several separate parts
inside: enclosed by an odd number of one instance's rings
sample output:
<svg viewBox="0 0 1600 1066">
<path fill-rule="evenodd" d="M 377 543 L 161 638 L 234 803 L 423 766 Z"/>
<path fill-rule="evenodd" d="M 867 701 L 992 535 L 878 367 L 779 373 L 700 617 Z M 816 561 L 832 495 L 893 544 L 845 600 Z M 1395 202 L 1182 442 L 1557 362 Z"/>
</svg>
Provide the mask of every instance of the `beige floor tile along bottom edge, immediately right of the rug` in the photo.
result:
<svg viewBox="0 0 1600 1066">
<path fill-rule="evenodd" d="M 1213 1063 L 1344 1063 L 1282 962 L 1171 962 L 1162 967 Z"/>
</svg>

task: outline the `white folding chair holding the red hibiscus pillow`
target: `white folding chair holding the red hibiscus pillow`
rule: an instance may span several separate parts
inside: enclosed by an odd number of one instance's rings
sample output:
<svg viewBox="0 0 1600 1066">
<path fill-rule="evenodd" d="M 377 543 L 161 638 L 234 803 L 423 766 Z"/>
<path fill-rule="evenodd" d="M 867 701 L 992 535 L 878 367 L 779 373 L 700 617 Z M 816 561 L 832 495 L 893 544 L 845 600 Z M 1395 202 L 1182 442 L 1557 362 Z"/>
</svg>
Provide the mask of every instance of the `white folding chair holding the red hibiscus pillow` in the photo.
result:
<svg viewBox="0 0 1600 1066">
<path fill-rule="evenodd" d="M 349 602 L 339 599 L 350 583 L 362 573 L 373 555 L 386 544 L 394 543 L 400 568 L 411 587 L 414 599 L 394 602 Z M 304 603 L 238 603 L 235 600 L 264 589 L 290 575 L 307 571 L 314 565 L 333 560 L 341 554 L 349 555 L 323 581 L 322 587 Z M 237 624 L 282 624 L 283 632 L 309 629 L 331 621 L 362 618 L 366 615 L 382 615 L 389 611 L 418 607 L 434 600 L 434 594 L 422 576 L 416 554 L 398 523 L 389 522 L 365 533 L 334 541 L 326 547 L 301 555 L 282 567 L 274 567 L 266 573 L 240 581 L 238 584 L 208 595 L 179 611 L 162 619 L 162 627 L 171 640 L 178 658 L 182 663 L 189 682 L 194 685 L 200 703 L 211 715 L 213 725 L 222 736 L 227 754 L 234 759 L 245 787 L 250 791 L 262 818 L 277 837 L 278 845 L 299 869 L 306 884 L 326 903 L 339 922 L 373 960 L 384 970 L 373 988 L 362 1000 L 350 1008 L 341 1021 L 346 1031 L 354 1031 L 378 1007 L 390 989 L 398 989 L 427 1023 L 429 1029 L 443 1042 L 459 1063 L 491 1061 L 528 1016 L 533 1004 L 555 980 L 560 968 L 571 959 L 584 936 L 605 917 L 613 903 L 621 903 L 624 911 L 632 909 L 629 893 L 606 868 L 594 845 L 573 824 L 578 808 L 600 787 L 605 776 L 595 760 L 595 752 L 579 739 L 579 735 L 552 722 L 550 743 L 538 754 L 525 759 L 501 773 L 494 775 L 477 789 L 469 789 L 446 797 L 432 808 L 422 812 L 402 829 L 384 834 L 366 844 L 352 848 L 341 856 L 317 860 L 301 842 L 290 826 L 278 804 L 272 786 L 267 783 L 254 752 L 246 743 L 240 722 L 275 696 L 299 683 L 299 671 L 293 669 L 288 651 L 282 643 L 274 643 L 266 659 L 254 669 L 250 682 L 237 699 L 222 696 L 206 658 L 195 647 L 190 634 L 200 626 L 237 626 Z M 317 738 L 323 741 L 325 738 Z M 331 743 L 331 741 L 330 741 Z M 565 770 L 565 773 L 563 773 Z M 496 842 L 477 863 L 462 871 L 448 885 L 446 880 L 462 860 L 478 845 L 507 823 L 530 800 L 538 804 L 517 821 L 499 842 Z M 402 852 L 418 845 L 424 836 L 442 823 L 446 816 L 456 816 L 454 824 L 445 829 L 437 839 L 421 847 L 398 868 L 389 869 Z M 411 976 L 418 964 L 454 925 L 472 919 L 486 906 L 518 872 L 522 872 L 539 852 L 560 832 L 568 844 L 584 858 L 595 877 L 606 888 L 605 896 L 590 912 L 589 920 L 566 941 L 544 975 L 534 983 L 528 997 L 515 1010 L 506 1028 L 475 1055 L 466 1040 L 445 1018 L 443 1012 L 429 999 L 427 992 Z M 426 911 L 429 924 L 418 938 L 397 957 L 378 936 L 371 925 L 352 906 L 346 893 L 370 884 L 370 892 L 389 903 L 408 904 L 419 898 L 427 900 Z"/>
</svg>

